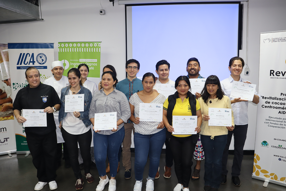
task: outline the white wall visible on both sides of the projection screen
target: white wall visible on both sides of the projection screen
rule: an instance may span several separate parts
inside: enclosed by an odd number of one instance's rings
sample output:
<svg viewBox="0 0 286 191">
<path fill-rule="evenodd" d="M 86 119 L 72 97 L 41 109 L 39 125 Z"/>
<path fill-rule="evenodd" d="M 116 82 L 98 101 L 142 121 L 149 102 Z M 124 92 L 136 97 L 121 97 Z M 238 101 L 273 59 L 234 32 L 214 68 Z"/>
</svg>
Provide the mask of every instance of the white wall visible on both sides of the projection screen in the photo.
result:
<svg viewBox="0 0 286 191">
<path fill-rule="evenodd" d="M 102 0 L 106 15 L 99 15 L 99 0 L 49 0 L 41 1 L 41 4 L 44 21 L 1 24 L 0 42 L 54 42 L 57 60 L 57 42 L 102 41 L 101 69 L 106 64 L 112 64 L 118 79 L 125 78 L 124 5 L 118 5 L 116 0 L 112 7 L 112 3 Z M 250 74 L 242 76 L 253 84 L 258 85 L 260 33 L 286 30 L 285 8 L 285 0 L 249 0 L 247 60 Z M 257 106 L 249 104 L 245 150 L 254 149 L 256 113 Z"/>
</svg>

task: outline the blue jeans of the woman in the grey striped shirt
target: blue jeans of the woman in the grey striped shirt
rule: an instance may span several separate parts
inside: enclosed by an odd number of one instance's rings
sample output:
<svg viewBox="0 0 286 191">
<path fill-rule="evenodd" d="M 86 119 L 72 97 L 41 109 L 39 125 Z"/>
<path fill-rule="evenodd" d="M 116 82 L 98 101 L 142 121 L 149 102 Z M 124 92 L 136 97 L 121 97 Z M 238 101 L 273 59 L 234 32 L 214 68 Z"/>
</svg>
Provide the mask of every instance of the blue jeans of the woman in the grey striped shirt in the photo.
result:
<svg viewBox="0 0 286 191">
<path fill-rule="evenodd" d="M 94 158 L 99 176 L 106 175 L 106 155 L 110 166 L 110 176 L 115 177 L 118 167 L 118 151 L 124 139 L 124 126 L 111 135 L 93 134 Z"/>
</svg>

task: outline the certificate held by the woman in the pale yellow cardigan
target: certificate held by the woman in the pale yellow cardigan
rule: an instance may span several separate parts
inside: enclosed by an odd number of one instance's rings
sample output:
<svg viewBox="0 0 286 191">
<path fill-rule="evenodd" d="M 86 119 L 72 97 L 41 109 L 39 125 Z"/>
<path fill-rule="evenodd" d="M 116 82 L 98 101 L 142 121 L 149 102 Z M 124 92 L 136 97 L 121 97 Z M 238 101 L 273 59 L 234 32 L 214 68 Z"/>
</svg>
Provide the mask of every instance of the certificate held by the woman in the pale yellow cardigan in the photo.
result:
<svg viewBox="0 0 286 191">
<path fill-rule="evenodd" d="M 208 108 L 208 126 L 226 126 L 231 127 L 231 109 Z"/>
</svg>

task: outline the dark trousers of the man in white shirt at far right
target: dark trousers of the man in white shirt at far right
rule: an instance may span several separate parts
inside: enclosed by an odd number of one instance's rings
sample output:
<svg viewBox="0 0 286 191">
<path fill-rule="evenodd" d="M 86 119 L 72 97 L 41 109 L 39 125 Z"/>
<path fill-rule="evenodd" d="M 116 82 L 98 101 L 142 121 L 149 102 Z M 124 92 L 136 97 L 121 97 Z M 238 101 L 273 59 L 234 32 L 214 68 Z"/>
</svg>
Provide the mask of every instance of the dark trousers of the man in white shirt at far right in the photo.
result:
<svg viewBox="0 0 286 191">
<path fill-rule="evenodd" d="M 234 136 L 234 158 L 233 166 L 231 168 L 231 176 L 239 176 L 241 171 L 241 163 L 243 160 L 243 147 L 246 140 L 247 134 L 246 125 L 235 125 L 233 131 L 229 131 L 227 135 L 227 144 L 225 145 L 225 150 L 223 151 L 223 168 L 222 174 L 227 175 L 227 157 L 229 155 L 229 145 L 231 144 L 232 135 Z"/>
</svg>

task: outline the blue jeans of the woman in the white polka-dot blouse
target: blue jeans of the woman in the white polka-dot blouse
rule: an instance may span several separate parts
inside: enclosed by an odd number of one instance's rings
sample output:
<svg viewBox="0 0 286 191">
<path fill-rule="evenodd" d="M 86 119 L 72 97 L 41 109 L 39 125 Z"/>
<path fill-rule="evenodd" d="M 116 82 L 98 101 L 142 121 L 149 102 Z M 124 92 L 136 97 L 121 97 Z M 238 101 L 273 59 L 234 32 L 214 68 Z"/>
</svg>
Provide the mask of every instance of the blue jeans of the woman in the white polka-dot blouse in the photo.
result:
<svg viewBox="0 0 286 191">
<path fill-rule="evenodd" d="M 135 180 L 143 180 L 143 172 L 147 162 L 149 153 L 150 165 L 148 179 L 154 180 L 159 163 L 162 147 L 166 140 L 166 128 L 161 131 L 151 134 L 142 135 L 140 133 L 134 133 L 134 147 L 135 147 Z"/>
</svg>

